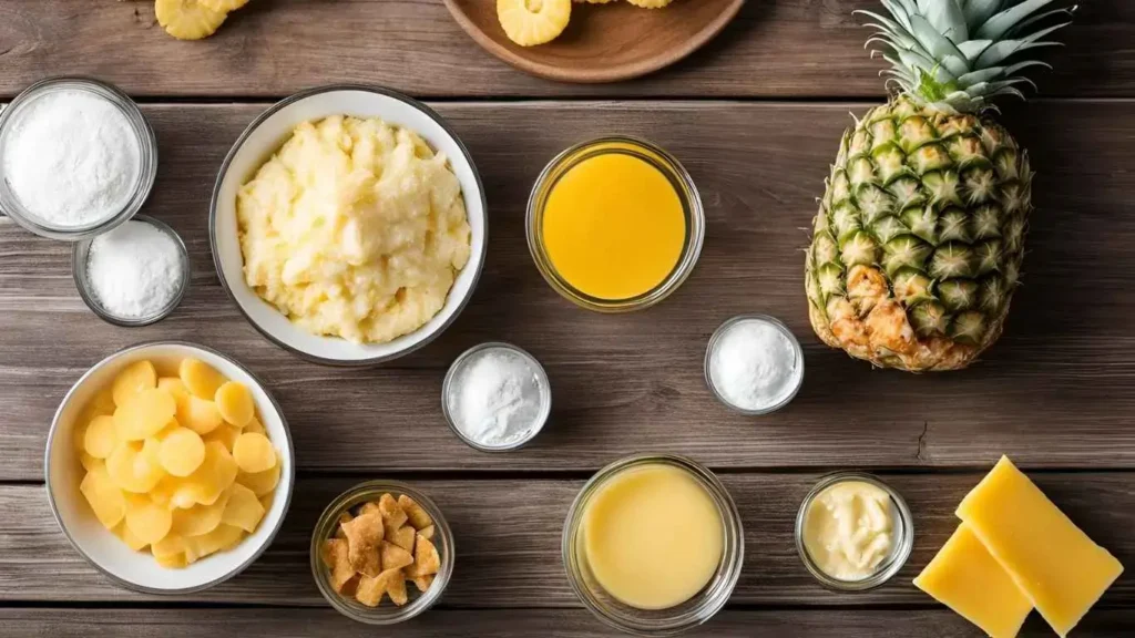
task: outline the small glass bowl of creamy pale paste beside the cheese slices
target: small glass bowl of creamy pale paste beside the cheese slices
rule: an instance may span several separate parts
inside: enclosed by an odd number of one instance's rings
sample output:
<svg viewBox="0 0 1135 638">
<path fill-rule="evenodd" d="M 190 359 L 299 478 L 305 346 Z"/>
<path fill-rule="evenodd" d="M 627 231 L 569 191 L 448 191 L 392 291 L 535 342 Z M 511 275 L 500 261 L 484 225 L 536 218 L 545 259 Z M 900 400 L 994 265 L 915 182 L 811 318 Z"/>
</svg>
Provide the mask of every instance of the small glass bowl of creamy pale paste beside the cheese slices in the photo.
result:
<svg viewBox="0 0 1135 638">
<path fill-rule="evenodd" d="M 804 566 L 836 591 L 865 591 L 886 582 L 906 564 L 914 543 L 914 517 L 902 495 L 865 472 L 822 477 L 796 517 L 796 548 Z"/>
</svg>

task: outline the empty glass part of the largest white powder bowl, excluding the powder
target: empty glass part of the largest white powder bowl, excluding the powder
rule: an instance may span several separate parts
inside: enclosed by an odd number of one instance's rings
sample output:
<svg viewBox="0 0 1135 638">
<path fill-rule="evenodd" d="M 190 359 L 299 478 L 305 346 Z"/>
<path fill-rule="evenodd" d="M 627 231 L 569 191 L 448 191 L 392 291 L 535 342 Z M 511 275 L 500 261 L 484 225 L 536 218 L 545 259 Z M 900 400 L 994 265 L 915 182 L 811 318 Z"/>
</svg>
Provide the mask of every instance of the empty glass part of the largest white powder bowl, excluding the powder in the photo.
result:
<svg viewBox="0 0 1135 638">
<path fill-rule="evenodd" d="M 126 93 L 123 93 L 111 84 L 90 77 L 66 76 L 51 77 L 36 82 L 25 89 L 19 95 L 16 95 L 16 99 L 8 104 L 7 109 L 0 111 L 0 148 L 5 145 L 9 126 L 15 121 L 16 114 L 37 98 L 54 91 L 86 91 L 118 107 L 131 123 L 131 127 L 137 137 L 138 158 L 141 160 L 134 192 L 123 209 L 83 226 L 53 226 L 33 215 L 19 202 L 16 194 L 11 192 L 11 188 L 9 188 L 8 179 L 2 174 L 2 162 L 0 162 L 0 212 L 6 213 L 12 221 L 41 237 L 74 242 L 106 233 L 137 213 L 142 204 L 150 196 L 150 191 L 153 188 L 153 181 L 158 176 L 158 137 L 153 134 L 153 128 L 146 121 L 142 111 L 138 110 L 137 104 Z"/>
</svg>

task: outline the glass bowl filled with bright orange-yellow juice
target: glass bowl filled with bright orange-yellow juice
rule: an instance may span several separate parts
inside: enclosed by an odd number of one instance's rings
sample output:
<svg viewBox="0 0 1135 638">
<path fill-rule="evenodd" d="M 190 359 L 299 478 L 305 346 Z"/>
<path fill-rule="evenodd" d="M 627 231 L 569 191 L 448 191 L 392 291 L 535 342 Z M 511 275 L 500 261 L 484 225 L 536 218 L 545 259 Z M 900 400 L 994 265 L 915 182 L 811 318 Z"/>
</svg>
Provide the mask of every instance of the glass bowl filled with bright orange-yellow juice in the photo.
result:
<svg viewBox="0 0 1135 638">
<path fill-rule="evenodd" d="M 528 249 L 544 279 L 598 312 L 649 308 L 693 270 L 705 211 L 673 156 L 634 137 L 602 137 L 556 156 L 528 200 Z"/>
</svg>

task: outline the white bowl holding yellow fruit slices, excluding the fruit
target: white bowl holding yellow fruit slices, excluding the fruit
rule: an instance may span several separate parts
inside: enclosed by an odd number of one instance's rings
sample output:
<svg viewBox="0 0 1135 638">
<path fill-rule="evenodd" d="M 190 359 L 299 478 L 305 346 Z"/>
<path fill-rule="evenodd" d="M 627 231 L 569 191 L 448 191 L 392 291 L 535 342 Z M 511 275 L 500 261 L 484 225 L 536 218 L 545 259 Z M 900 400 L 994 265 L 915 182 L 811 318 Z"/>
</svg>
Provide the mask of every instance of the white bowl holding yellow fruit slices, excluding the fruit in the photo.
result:
<svg viewBox="0 0 1135 638">
<path fill-rule="evenodd" d="M 220 552 L 185 569 L 163 569 L 149 553 L 133 552 L 102 527 L 78 490 L 83 479 L 74 440 L 75 419 L 94 394 L 107 387 L 126 366 L 149 359 L 155 364 L 176 364 L 194 356 L 216 368 L 226 378 L 241 381 L 252 391 L 260 420 L 268 438 L 280 451 L 280 480 L 276 486 L 271 509 L 264 513 L 257 531 L 235 548 Z M 44 457 L 48 501 L 59 528 L 75 549 L 91 564 L 118 584 L 148 594 L 187 594 L 224 582 L 252 564 L 271 544 L 284 522 L 295 482 L 295 455 L 292 435 L 279 405 L 260 381 L 243 366 L 217 351 L 183 342 L 146 343 L 127 347 L 87 370 L 64 397 L 48 434 Z"/>
</svg>

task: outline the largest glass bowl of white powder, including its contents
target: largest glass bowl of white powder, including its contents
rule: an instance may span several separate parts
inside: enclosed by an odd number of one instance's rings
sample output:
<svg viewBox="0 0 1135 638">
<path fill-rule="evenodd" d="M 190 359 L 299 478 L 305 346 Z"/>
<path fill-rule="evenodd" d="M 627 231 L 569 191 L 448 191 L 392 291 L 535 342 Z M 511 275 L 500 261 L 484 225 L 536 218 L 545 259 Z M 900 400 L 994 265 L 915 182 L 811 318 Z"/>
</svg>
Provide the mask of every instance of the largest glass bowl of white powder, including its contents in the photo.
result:
<svg viewBox="0 0 1135 638">
<path fill-rule="evenodd" d="M 118 89 L 37 82 L 0 111 L 0 212 L 43 237 L 77 241 L 134 217 L 158 174 L 158 141 Z"/>
</svg>

